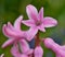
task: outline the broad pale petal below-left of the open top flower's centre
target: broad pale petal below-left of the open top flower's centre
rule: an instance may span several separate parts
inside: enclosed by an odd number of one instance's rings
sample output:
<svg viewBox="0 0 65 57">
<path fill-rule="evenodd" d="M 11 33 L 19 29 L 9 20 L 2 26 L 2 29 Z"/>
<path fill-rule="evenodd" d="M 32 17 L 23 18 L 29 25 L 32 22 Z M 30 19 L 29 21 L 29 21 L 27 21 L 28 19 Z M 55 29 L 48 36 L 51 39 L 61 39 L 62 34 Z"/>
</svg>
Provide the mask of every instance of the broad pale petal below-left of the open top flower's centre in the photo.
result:
<svg viewBox="0 0 65 57">
<path fill-rule="evenodd" d="M 38 32 L 37 27 L 30 27 L 26 32 L 26 39 L 30 42 L 36 36 L 37 32 Z"/>
</svg>

